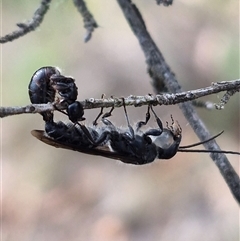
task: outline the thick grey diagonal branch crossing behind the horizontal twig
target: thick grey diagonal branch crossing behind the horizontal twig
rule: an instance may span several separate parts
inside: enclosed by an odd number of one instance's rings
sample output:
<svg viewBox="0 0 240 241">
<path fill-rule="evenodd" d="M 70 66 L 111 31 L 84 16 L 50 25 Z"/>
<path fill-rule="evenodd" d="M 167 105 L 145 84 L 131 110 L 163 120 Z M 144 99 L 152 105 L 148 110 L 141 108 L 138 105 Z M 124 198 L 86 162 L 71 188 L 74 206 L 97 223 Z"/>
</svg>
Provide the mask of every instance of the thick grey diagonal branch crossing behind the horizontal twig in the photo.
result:
<svg viewBox="0 0 240 241">
<path fill-rule="evenodd" d="M 162 53 L 157 48 L 156 44 L 148 33 L 140 12 L 136 11 L 136 6 L 130 0 L 117 1 L 132 31 L 139 40 L 139 44 L 144 52 L 149 73 L 153 79 L 154 86 L 159 85 L 158 83 L 154 83 L 156 80 L 162 80 L 168 88 L 169 92 L 182 92 L 181 86 L 178 84 L 178 81 L 175 78 L 173 72 L 165 62 Z M 190 102 L 185 102 L 179 104 L 179 107 L 199 139 L 203 141 L 209 138 L 210 133 L 200 117 L 197 115 L 192 104 Z M 204 146 L 206 149 L 210 150 L 221 150 L 215 140 L 209 143 L 205 143 Z M 238 203 L 240 203 L 240 179 L 229 163 L 227 157 L 224 154 L 216 153 L 212 153 L 210 156 L 214 163 L 217 165 L 233 196 L 238 201 Z"/>
</svg>

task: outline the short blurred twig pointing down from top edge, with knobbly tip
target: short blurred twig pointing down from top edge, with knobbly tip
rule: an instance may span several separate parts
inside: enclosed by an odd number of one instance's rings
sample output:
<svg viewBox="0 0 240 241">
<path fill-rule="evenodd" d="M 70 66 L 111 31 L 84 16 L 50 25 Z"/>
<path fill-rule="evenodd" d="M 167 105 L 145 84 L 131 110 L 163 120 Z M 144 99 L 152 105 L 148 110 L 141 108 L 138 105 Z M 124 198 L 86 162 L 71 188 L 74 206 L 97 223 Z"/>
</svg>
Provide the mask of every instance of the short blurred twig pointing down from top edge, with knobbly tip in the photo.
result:
<svg viewBox="0 0 240 241">
<path fill-rule="evenodd" d="M 86 43 L 91 39 L 92 32 L 98 27 L 98 25 L 83 0 L 73 0 L 73 2 L 83 17 L 84 28 L 87 30 L 84 37 L 84 42 Z"/>
</svg>

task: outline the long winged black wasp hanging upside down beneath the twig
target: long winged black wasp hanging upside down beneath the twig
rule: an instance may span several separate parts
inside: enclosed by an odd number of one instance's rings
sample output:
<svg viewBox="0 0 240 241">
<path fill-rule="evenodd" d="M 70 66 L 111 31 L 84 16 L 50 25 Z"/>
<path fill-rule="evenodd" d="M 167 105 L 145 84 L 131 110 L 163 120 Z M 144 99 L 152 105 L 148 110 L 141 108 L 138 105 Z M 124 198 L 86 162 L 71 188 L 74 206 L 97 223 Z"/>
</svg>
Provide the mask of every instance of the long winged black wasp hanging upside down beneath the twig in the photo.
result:
<svg viewBox="0 0 240 241">
<path fill-rule="evenodd" d="M 124 103 L 124 100 L 123 100 Z M 222 133 L 200 143 L 181 147 L 182 130 L 180 125 L 173 121 L 172 125 L 167 124 L 163 128 L 162 121 L 149 106 L 146 121 L 139 122 L 134 131 L 130 125 L 125 104 L 124 113 L 128 128 L 123 130 L 114 126 L 104 115 L 102 118 L 103 126 L 86 127 L 83 131 L 73 124 L 63 122 L 46 122 L 45 132 L 33 130 L 31 133 L 37 139 L 48 145 L 55 147 L 75 150 L 91 155 L 99 155 L 107 158 L 117 159 L 124 163 L 143 165 L 153 162 L 155 159 L 170 159 L 178 151 L 186 151 L 185 148 L 208 142 Z M 113 109 L 112 109 L 113 110 Z M 146 125 L 150 118 L 150 110 L 154 114 L 158 128 L 150 129 L 146 132 L 141 131 L 141 127 Z M 89 138 L 90 136 L 90 138 Z M 190 150 L 187 150 L 190 151 Z M 193 150 L 193 152 L 196 150 Z M 201 150 L 200 150 L 201 151 Z M 203 150 L 204 152 L 217 152 Z M 221 153 L 238 154 L 238 152 L 220 151 Z"/>
</svg>

